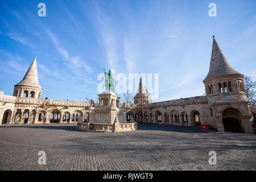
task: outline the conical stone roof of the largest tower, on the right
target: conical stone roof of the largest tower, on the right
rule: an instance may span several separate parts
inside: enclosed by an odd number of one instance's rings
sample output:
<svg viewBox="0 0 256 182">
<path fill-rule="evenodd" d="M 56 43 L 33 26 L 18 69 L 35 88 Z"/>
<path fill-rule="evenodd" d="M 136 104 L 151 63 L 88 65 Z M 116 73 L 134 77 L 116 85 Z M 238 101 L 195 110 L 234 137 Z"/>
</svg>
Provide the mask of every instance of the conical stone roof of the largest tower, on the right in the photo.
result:
<svg viewBox="0 0 256 182">
<path fill-rule="evenodd" d="M 228 59 L 222 52 L 220 46 L 215 40 L 215 36 L 213 35 L 213 43 L 212 43 L 212 56 L 210 57 L 210 69 L 206 78 L 219 76 L 219 75 L 227 75 L 227 74 L 240 74 L 236 70 L 232 68 Z"/>
</svg>

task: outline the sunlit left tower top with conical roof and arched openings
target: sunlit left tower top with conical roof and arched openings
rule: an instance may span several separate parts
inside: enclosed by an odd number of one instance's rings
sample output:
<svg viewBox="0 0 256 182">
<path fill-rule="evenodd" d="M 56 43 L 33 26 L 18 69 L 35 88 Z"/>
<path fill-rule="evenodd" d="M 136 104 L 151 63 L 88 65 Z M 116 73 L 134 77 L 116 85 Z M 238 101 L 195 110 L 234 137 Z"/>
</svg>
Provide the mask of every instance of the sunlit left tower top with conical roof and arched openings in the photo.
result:
<svg viewBox="0 0 256 182">
<path fill-rule="evenodd" d="M 36 56 L 22 81 L 14 85 L 13 96 L 40 98 L 42 87 L 38 82 L 38 69 L 36 67 Z"/>
</svg>

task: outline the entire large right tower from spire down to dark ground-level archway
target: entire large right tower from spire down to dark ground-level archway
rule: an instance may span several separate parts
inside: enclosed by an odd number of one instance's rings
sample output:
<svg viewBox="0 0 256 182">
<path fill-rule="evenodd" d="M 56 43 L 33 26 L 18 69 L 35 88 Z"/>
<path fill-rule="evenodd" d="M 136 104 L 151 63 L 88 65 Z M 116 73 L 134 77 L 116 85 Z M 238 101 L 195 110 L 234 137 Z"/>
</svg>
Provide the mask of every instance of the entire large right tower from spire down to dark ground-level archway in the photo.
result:
<svg viewBox="0 0 256 182">
<path fill-rule="evenodd" d="M 203 82 L 209 123 L 218 131 L 253 132 L 243 77 L 232 68 L 213 36 L 210 69 Z"/>
</svg>

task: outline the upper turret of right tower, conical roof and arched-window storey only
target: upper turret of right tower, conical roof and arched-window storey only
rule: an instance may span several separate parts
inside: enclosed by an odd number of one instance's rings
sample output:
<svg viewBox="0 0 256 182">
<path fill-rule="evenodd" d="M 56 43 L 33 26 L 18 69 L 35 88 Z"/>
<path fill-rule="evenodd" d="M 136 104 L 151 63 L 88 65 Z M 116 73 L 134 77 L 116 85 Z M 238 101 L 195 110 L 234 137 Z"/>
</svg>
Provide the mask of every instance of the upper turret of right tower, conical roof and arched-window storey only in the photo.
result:
<svg viewBox="0 0 256 182">
<path fill-rule="evenodd" d="M 241 73 L 232 68 L 213 36 L 210 69 L 203 81 L 207 96 L 212 96 L 212 102 L 217 101 L 224 95 L 247 101 L 243 77 Z"/>
</svg>

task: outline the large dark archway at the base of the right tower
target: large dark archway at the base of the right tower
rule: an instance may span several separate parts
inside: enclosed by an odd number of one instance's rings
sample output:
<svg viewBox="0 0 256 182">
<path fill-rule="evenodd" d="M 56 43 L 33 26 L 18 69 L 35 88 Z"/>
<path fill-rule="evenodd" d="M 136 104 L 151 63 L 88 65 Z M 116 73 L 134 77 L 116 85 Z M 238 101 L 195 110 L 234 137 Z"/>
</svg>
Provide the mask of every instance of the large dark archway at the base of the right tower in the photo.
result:
<svg viewBox="0 0 256 182">
<path fill-rule="evenodd" d="M 222 123 L 226 132 L 241 133 L 241 113 L 234 108 L 225 109 L 222 112 Z"/>
</svg>

